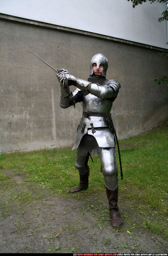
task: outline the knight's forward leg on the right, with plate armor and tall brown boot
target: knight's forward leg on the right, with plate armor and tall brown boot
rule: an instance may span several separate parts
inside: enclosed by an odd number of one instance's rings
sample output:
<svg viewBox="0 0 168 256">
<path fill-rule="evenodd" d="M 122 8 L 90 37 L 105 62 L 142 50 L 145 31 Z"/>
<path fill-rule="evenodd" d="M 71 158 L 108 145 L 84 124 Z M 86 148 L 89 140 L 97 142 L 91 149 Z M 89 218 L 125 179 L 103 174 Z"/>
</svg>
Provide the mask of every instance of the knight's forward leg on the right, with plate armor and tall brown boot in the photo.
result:
<svg viewBox="0 0 168 256">
<path fill-rule="evenodd" d="M 101 171 L 105 178 L 107 199 L 109 202 L 109 212 L 112 227 L 119 229 L 123 225 L 122 218 L 118 210 L 118 170 L 115 163 L 115 148 L 102 148 Z"/>
</svg>

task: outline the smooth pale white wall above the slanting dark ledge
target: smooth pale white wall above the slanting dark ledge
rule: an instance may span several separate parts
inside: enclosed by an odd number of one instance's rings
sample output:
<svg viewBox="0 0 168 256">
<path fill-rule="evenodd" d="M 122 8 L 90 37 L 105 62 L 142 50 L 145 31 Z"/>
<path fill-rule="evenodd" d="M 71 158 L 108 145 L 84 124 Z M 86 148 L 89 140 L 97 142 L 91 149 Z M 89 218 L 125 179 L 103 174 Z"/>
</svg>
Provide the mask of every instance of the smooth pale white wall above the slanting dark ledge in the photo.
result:
<svg viewBox="0 0 168 256">
<path fill-rule="evenodd" d="M 0 12 L 168 49 L 166 3 L 127 0 L 0 0 Z"/>
</svg>

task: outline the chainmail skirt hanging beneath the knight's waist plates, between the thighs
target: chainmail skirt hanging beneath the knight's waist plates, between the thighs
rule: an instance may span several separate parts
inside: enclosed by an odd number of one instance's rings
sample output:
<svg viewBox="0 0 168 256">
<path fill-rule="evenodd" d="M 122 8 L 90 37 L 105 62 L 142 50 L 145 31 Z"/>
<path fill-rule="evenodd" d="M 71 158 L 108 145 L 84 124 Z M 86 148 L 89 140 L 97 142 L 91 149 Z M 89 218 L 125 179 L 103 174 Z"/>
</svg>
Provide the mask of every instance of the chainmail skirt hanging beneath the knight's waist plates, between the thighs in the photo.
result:
<svg viewBox="0 0 168 256">
<path fill-rule="evenodd" d="M 85 134 L 81 142 L 79 144 L 79 149 L 80 149 L 80 155 L 81 156 L 86 156 L 88 155 L 88 152 L 90 155 L 99 155 L 101 153 L 101 149 L 94 138 L 94 136 Z"/>
</svg>

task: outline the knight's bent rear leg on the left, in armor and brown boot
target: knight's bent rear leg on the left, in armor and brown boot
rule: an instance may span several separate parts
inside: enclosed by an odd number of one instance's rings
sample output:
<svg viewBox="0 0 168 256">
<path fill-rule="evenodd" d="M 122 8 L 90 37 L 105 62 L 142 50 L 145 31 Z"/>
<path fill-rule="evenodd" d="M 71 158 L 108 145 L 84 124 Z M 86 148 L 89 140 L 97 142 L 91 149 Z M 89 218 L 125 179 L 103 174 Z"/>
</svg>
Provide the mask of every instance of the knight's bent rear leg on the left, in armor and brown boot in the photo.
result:
<svg viewBox="0 0 168 256">
<path fill-rule="evenodd" d="M 77 149 L 77 158 L 75 162 L 75 167 L 79 170 L 80 182 L 77 187 L 69 190 L 69 193 L 76 193 L 83 189 L 88 188 L 88 178 L 89 178 L 89 167 L 87 165 L 89 155 L 80 155 L 80 149 Z"/>
</svg>

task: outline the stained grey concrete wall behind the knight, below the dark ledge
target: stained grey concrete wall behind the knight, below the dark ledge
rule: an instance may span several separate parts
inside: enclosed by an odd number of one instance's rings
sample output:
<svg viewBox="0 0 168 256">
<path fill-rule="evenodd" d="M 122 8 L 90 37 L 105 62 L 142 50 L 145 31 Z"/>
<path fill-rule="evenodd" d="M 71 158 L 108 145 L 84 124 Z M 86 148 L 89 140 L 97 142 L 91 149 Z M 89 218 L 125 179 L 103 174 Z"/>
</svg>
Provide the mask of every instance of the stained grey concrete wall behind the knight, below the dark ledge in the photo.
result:
<svg viewBox="0 0 168 256">
<path fill-rule="evenodd" d="M 148 131 L 167 116 L 167 86 L 153 81 L 167 74 L 168 61 L 157 55 L 162 49 L 2 16 L 0 152 L 72 146 L 81 118 L 81 103 L 60 108 L 56 73 L 25 47 L 81 79 L 87 79 L 94 54 L 106 55 L 107 78 L 121 83 L 112 108 L 119 139 Z"/>
</svg>

